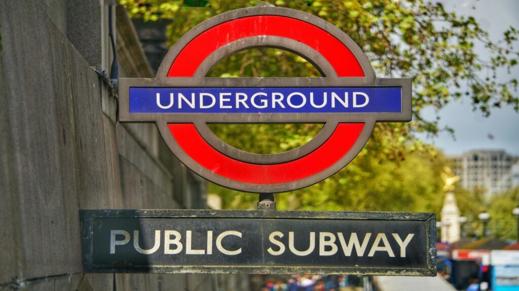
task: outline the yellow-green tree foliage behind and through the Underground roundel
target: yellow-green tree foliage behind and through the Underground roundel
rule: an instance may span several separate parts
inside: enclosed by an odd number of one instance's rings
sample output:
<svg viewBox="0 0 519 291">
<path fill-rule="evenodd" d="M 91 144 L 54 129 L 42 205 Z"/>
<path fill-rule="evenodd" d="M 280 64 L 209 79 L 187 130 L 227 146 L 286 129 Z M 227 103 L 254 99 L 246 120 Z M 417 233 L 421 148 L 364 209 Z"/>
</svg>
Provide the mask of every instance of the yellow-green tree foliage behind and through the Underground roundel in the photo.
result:
<svg viewBox="0 0 519 291">
<path fill-rule="evenodd" d="M 257 4 L 245 1 L 119 0 L 132 17 L 149 21 L 168 18 L 169 44 L 190 28 L 216 14 Z M 475 110 L 488 115 L 503 105 L 519 109 L 517 80 L 499 82 L 504 68 L 517 64 L 514 50 L 519 32 L 510 27 L 492 42 L 472 17 L 458 16 L 440 2 L 424 0 L 317 1 L 272 0 L 270 4 L 315 14 L 342 29 L 364 50 L 377 77 L 413 78 L 413 121 L 377 124 L 370 141 L 345 169 L 316 185 L 279 194 L 279 209 L 387 210 L 439 212 L 442 156 L 414 138 L 416 132 L 438 134 L 438 120 L 426 120 L 422 109 L 441 109 L 470 96 Z M 196 7 L 201 6 L 201 7 Z M 489 58 L 474 47 L 482 43 Z M 318 70 L 301 56 L 256 48 L 230 55 L 210 77 L 318 77 Z M 301 146 L 320 124 L 211 125 L 231 146 L 255 153 L 276 153 Z M 443 128 L 443 130 L 450 130 Z M 236 195 L 216 185 L 225 208 L 254 208 L 257 194 Z M 467 195 L 469 197 L 470 195 Z M 464 198 L 461 203 L 470 201 Z"/>
</svg>

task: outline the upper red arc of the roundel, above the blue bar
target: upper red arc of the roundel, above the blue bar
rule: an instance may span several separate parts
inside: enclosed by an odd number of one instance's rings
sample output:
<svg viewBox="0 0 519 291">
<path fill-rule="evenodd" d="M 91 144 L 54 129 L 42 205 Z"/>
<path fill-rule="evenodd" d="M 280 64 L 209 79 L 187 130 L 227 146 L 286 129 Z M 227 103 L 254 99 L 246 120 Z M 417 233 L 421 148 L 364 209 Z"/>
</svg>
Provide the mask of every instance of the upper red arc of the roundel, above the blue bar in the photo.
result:
<svg viewBox="0 0 519 291">
<path fill-rule="evenodd" d="M 204 31 L 182 49 L 171 64 L 168 77 L 193 77 L 200 64 L 218 48 L 241 38 L 259 35 L 303 42 L 321 53 L 337 76 L 364 77 L 357 58 L 336 37 L 308 22 L 273 15 L 238 18 Z"/>
</svg>

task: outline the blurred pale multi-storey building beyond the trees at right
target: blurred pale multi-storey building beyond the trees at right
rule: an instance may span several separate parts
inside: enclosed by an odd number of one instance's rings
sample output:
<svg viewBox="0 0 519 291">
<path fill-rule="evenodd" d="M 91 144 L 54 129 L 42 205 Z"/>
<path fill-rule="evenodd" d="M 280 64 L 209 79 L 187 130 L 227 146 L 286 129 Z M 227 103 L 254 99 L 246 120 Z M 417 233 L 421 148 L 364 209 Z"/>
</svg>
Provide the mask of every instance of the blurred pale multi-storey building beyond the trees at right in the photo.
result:
<svg viewBox="0 0 519 291">
<path fill-rule="evenodd" d="M 461 177 L 461 185 L 467 190 L 480 188 L 485 191 L 486 197 L 514 186 L 512 168 L 516 168 L 515 179 L 519 180 L 519 158 L 502 150 L 472 150 L 448 158 L 452 162 L 454 173 Z M 519 182 L 516 181 L 515 185 L 517 184 Z"/>
</svg>

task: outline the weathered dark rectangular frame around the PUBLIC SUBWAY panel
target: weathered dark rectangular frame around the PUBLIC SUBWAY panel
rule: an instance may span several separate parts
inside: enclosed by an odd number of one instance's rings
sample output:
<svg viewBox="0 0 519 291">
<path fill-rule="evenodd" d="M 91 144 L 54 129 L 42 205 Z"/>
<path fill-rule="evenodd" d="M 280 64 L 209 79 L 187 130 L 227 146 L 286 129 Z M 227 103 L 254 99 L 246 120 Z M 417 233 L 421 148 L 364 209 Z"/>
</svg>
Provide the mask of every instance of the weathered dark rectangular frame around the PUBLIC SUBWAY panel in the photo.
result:
<svg viewBox="0 0 519 291">
<path fill-rule="evenodd" d="M 265 210 L 81 210 L 83 225 L 83 265 L 88 273 L 270 273 L 270 274 L 358 274 L 358 275 L 436 275 L 436 215 L 434 213 L 409 212 L 321 212 L 321 211 L 265 211 Z M 99 231 L 96 219 L 236 219 L 236 220 L 301 220 L 319 221 L 373 221 L 378 226 L 384 222 L 420 222 L 425 229 L 425 241 L 420 243 L 425 264 L 420 268 L 365 267 L 365 266 L 210 266 L 205 261 L 198 266 L 176 265 L 134 266 L 114 261 L 108 265 L 94 264 L 94 232 Z M 101 224 L 103 224 L 101 222 Z M 142 223 L 139 223 L 142 225 Z M 99 242 L 98 242 L 99 243 Z M 130 242 L 131 243 L 131 242 Z"/>
</svg>

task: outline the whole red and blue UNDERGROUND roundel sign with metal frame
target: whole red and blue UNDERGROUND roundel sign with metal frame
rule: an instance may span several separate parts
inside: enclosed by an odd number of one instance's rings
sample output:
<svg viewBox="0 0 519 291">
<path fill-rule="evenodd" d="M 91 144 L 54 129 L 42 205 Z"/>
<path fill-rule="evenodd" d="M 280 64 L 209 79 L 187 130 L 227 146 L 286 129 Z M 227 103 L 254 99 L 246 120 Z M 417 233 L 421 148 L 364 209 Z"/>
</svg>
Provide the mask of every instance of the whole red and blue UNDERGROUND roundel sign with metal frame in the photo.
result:
<svg viewBox="0 0 519 291">
<path fill-rule="evenodd" d="M 322 78 L 208 78 L 218 61 L 253 47 L 294 52 Z M 120 121 L 155 122 L 194 172 L 240 191 L 309 186 L 346 166 L 375 122 L 411 120 L 411 79 L 377 79 L 359 46 L 333 24 L 279 7 L 220 14 L 185 34 L 154 79 L 120 80 Z M 324 123 L 297 149 L 254 154 L 218 139 L 208 123 Z"/>
</svg>

